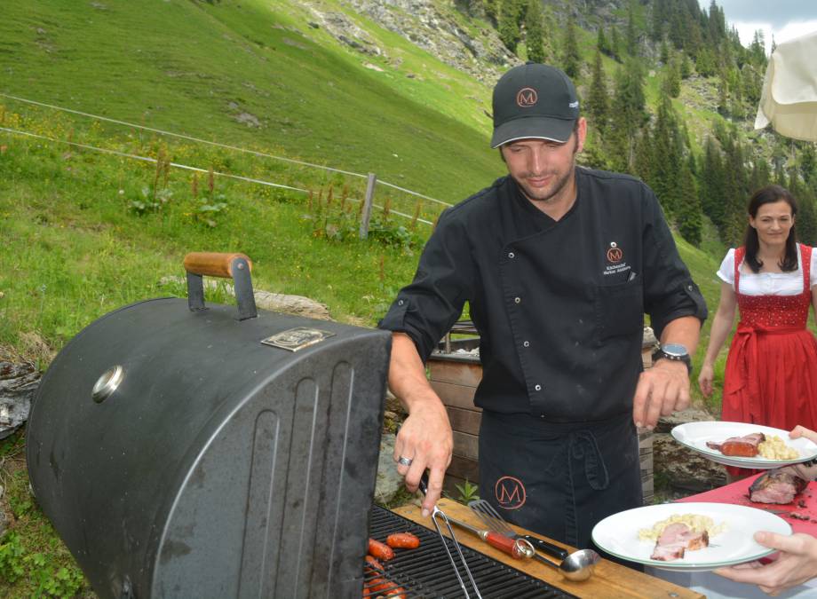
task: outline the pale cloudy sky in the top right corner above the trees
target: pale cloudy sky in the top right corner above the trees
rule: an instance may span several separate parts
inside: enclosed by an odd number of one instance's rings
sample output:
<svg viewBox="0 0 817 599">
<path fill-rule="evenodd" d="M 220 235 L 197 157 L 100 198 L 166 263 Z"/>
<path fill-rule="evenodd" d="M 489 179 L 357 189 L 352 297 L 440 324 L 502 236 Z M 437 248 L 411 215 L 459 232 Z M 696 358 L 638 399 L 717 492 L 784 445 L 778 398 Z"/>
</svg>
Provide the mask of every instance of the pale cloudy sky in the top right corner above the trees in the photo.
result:
<svg viewBox="0 0 817 599">
<path fill-rule="evenodd" d="M 815 0 L 715 0 L 726 14 L 727 27 L 738 30 L 741 43 L 748 45 L 761 29 L 766 52 L 771 49 L 772 35 L 776 43 L 817 31 L 817 1 Z M 698 0 L 707 12 L 710 0 Z"/>
</svg>

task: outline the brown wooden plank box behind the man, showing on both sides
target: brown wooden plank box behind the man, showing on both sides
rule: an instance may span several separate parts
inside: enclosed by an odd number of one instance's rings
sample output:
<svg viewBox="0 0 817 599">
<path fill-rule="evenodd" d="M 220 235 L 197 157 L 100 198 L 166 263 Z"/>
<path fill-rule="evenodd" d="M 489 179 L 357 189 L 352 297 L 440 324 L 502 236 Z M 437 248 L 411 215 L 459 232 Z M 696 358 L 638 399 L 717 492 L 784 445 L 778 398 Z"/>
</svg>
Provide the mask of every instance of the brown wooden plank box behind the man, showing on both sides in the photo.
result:
<svg viewBox="0 0 817 599">
<path fill-rule="evenodd" d="M 430 382 L 433 390 L 442 399 L 448 411 L 451 428 L 454 430 L 454 454 L 446 472 L 444 490 L 458 498 L 456 485 L 467 480 L 479 485 L 479 443 L 482 409 L 474 406 L 473 396 L 482 380 L 482 365 L 479 358 L 471 355 L 451 353 L 457 349 L 470 350 L 479 345 L 479 338 L 451 341 L 447 351 L 435 351 L 428 360 Z M 645 333 L 645 343 L 641 351 L 644 367 L 651 366 L 650 356 L 654 347 L 652 332 Z M 442 349 L 442 344 L 440 344 Z M 644 505 L 653 500 L 653 433 L 639 430 L 639 456 L 641 462 L 641 492 Z"/>
</svg>

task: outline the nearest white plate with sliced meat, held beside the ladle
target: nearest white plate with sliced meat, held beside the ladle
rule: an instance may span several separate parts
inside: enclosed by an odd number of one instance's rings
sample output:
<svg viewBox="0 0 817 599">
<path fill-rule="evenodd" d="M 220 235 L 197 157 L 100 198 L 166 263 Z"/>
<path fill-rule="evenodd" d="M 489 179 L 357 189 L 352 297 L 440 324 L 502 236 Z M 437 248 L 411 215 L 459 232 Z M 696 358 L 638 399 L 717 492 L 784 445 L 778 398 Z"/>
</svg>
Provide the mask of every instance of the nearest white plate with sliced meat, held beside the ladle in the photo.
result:
<svg viewBox="0 0 817 599">
<path fill-rule="evenodd" d="M 715 525 L 726 524 L 723 532 L 710 537 L 710 546 L 687 551 L 681 559 L 662 562 L 650 559 L 654 540 L 639 540 L 639 530 L 652 528 L 675 514 L 710 516 Z M 593 542 L 607 553 L 622 559 L 647 564 L 662 570 L 709 571 L 722 566 L 751 562 L 768 556 L 774 549 L 758 545 L 752 538 L 756 531 L 791 534 L 791 526 L 780 516 L 763 509 L 734 506 L 728 503 L 662 503 L 628 509 L 607 516 L 593 528 Z"/>
</svg>

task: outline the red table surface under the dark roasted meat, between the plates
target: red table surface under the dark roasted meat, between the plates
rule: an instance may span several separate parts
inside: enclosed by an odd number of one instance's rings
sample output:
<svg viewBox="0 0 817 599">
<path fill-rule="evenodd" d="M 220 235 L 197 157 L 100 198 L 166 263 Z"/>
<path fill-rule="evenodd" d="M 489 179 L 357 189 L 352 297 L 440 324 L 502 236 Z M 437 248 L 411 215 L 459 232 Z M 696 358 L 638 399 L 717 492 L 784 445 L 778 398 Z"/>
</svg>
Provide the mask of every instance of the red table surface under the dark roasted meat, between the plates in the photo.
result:
<svg viewBox="0 0 817 599">
<path fill-rule="evenodd" d="M 794 532 L 806 532 L 813 537 L 817 537 L 817 483 L 809 483 L 803 493 L 800 493 L 794 502 L 789 505 L 752 503 L 749 500 L 749 487 L 759 476 L 761 475 L 744 478 L 731 485 L 724 485 L 678 501 L 711 501 L 712 503 L 731 503 L 736 506 L 764 509 L 781 516 L 783 520 L 791 524 Z M 802 506 L 800 502 L 803 503 Z M 796 516 L 792 516 L 792 514 Z"/>
</svg>

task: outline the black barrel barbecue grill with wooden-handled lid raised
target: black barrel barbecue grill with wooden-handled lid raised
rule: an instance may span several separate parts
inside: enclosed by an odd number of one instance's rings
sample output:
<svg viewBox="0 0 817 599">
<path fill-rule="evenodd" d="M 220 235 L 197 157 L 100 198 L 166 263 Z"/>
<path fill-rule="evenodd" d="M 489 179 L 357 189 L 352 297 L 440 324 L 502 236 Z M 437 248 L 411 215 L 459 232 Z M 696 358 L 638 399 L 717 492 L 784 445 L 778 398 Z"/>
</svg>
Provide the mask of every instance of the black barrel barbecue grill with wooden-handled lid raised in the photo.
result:
<svg viewBox="0 0 817 599">
<path fill-rule="evenodd" d="M 185 265 L 187 301 L 125 306 L 67 343 L 28 423 L 32 489 L 95 592 L 462 596 L 440 539 L 372 506 L 391 335 L 257 311 L 246 256 Z M 237 308 L 205 306 L 202 275 L 233 278 Z M 369 534 L 406 530 L 423 547 L 373 590 Z M 483 596 L 572 596 L 465 551 Z"/>
</svg>

